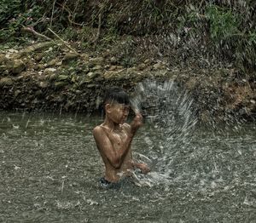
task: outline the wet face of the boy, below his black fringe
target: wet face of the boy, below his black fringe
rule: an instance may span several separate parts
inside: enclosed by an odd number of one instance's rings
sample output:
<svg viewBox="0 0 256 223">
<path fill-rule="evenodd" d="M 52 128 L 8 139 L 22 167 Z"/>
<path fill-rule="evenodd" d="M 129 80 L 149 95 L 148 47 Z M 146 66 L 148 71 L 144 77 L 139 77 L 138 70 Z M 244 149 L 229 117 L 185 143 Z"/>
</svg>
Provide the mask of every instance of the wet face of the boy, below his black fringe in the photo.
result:
<svg viewBox="0 0 256 223">
<path fill-rule="evenodd" d="M 107 104 L 106 108 L 108 117 L 111 118 L 113 123 L 125 123 L 129 115 L 130 106 L 113 102 L 111 104 Z"/>
</svg>

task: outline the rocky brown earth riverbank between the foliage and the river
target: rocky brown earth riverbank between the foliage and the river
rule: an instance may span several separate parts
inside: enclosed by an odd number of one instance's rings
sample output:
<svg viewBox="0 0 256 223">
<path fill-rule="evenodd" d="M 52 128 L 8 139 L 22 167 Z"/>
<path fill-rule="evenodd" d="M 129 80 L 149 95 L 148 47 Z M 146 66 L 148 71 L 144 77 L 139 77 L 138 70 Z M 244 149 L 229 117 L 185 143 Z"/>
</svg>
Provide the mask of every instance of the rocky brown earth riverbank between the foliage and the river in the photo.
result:
<svg viewBox="0 0 256 223">
<path fill-rule="evenodd" d="M 131 57 L 126 57 L 125 64 L 125 58 L 120 60 L 109 48 L 101 52 L 71 49 L 56 42 L 2 49 L 0 109 L 95 112 L 108 86 L 132 92 L 137 83 L 149 78 L 172 80 L 187 89 L 204 123 L 255 118 L 256 80 L 232 66 L 190 63 L 182 67 L 149 54 L 141 54 L 141 60 L 132 64 Z"/>
</svg>

